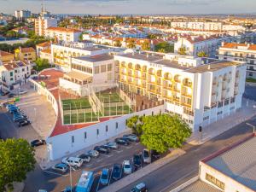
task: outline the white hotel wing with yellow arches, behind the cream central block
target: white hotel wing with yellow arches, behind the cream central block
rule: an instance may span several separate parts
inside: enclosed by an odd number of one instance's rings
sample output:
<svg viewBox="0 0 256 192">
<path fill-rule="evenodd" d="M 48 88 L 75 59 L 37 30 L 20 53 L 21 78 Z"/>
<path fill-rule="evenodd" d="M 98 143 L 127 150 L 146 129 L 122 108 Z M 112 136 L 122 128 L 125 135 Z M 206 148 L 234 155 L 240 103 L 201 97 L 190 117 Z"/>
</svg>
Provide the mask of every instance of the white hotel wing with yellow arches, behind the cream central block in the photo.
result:
<svg viewBox="0 0 256 192">
<path fill-rule="evenodd" d="M 102 55 L 110 52 L 102 46 L 91 46 L 87 42 L 70 42 L 63 44 L 52 44 L 51 55 L 55 66 L 65 72 L 71 70 L 72 57 Z"/>
</svg>

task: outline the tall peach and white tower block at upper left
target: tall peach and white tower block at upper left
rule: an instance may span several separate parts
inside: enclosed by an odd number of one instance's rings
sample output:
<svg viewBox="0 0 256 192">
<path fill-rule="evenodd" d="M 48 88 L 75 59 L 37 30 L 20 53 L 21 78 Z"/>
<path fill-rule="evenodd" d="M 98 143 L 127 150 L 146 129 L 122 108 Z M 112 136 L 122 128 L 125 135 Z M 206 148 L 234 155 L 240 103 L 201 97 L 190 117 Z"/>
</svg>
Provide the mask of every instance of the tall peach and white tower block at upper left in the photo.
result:
<svg viewBox="0 0 256 192">
<path fill-rule="evenodd" d="M 35 20 L 35 33 L 38 36 L 44 36 L 46 29 L 50 26 L 57 26 L 57 20 L 49 17 L 39 17 Z"/>
</svg>

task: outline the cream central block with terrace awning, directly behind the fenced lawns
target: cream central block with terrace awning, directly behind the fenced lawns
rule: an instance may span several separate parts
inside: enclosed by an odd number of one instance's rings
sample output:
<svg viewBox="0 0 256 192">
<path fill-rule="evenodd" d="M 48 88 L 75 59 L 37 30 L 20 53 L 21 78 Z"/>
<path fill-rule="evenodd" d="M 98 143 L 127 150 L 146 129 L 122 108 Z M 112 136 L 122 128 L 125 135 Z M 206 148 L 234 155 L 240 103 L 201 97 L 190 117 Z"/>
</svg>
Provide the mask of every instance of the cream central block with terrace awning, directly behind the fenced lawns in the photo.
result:
<svg viewBox="0 0 256 192">
<path fill-rule="evenodd" d="M 114 82 L 113 55 L 102 54 L 72 58 L 71 71 L 60 79 L 60 86 L 64 90 L 73 90 L 75 95 L 88 96 L 90 86 L 106 86 Z"/>
</svg>

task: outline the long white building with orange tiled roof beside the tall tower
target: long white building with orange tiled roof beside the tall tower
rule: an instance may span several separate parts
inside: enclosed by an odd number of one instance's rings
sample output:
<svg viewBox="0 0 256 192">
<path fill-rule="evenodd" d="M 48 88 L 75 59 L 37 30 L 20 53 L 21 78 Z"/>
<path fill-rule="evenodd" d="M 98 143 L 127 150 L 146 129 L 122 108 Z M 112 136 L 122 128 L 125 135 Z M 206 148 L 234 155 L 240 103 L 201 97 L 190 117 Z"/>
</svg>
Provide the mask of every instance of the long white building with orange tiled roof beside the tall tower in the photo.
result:
<svg viewBox="0 0 256 192">
<path fill-rule="evenodd" d="M 55 38 L 58 41 L 78 42 L 81 33 L 77 29 L 50 26 L 45 32 L 45 37 Z"/>
</svg>

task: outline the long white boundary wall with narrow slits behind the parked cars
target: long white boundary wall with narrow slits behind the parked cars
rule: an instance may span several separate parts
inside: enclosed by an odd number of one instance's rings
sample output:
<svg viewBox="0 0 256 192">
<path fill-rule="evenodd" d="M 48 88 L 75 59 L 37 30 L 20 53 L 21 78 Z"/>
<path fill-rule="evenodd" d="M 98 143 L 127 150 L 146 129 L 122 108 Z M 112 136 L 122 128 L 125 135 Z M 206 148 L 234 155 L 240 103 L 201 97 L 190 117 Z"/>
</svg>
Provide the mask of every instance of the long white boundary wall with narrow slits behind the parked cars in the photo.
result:
<svg viewBox="0 0 256 192">
<path fill-rule="evenodd" d="M 73 154 L 83 148 L 88 148 L 90 146 L 93 148 L 96 143 L 111 140 L 112 137 L 116 137 L 122 132 L 127 131 L 125 125 L 126 119 L 133 115 L 151 115 L 152 113 L 164 113 L 164 105 L 149 108 L 137 113 L 126 114 L 119 118 L 110 119 L 75 131 L 69 131 L 55 137 L 48 137 L 47 144 L 49 148 L 49 160 L 57 160 L 66 155 Z M 108 131 L 106 131 L 107 126 Z M 97 131 L 99 134 L 97 134 Z"/>
</svg>

